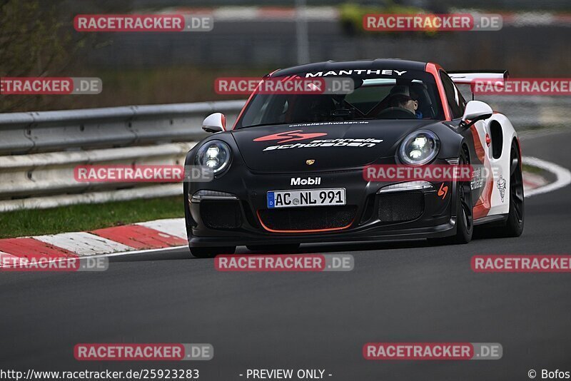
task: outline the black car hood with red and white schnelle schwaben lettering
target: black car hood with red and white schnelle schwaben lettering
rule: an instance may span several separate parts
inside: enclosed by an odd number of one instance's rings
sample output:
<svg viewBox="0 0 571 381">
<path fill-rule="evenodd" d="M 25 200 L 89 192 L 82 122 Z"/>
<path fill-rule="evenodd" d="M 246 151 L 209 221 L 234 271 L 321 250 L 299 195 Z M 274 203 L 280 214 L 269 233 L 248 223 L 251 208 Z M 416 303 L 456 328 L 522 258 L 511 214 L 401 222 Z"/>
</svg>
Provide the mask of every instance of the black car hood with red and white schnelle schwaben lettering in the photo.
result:
<svg viewBox="0 0 571 381">
<path fill-rule="evenodd" d="M 231 133 L 246 166 L 254 171 L 327 171 L 394 158 L 398 143 L 408 133 L 433 123 L 408 119 L 300 123 Z"/>
</svg>

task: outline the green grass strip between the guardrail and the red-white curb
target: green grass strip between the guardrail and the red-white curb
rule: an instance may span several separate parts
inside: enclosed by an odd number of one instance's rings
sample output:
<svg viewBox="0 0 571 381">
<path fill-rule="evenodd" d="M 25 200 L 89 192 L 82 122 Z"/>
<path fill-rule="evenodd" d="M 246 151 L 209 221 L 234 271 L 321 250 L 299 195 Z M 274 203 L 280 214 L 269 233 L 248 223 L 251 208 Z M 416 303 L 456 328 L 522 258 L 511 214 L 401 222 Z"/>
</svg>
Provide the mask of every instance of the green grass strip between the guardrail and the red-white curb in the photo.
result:
<svg viewBox="0 0 571 381">
<path fill-rule="evenodd" d="M 0 213 L 0 238 L 86 231 L 184 217 L 181 196 Z"/>
</svg>

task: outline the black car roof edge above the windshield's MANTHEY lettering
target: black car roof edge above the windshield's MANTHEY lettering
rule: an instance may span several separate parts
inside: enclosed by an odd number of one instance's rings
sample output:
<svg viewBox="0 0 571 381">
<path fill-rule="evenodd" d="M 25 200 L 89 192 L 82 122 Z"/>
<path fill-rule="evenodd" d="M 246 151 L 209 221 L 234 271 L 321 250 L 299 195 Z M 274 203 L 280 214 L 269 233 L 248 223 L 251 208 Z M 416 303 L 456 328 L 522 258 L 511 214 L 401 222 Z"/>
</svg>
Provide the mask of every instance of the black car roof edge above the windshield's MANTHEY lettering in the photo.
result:
<svg viewBox="0 0 571 381">
<path fill-rule="evenodd" d="M 403 59 L 367 59 L 359 61 L 325 61 L 315 64 L 305 64 L 283 68 L 272 73 L 271 76 L 290 76 L 297 73 L 314 73 L 317 71 L 339 71 L 349 69 L 403 69 L 403 70 L 420 70 L 424 71 L 425 62 L 407 61 Z"/>
</svg>

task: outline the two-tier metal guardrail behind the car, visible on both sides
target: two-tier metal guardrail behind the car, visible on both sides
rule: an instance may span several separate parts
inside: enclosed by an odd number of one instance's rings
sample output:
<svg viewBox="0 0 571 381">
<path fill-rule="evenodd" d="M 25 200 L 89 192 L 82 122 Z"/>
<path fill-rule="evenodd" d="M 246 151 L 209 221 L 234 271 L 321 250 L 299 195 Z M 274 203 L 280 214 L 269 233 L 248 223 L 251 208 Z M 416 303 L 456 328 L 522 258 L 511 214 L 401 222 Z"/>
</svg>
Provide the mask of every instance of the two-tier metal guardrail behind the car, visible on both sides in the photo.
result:
<svg viewBox="0 0 571 381">
<path fill-rule="evenodd" d="M 516 129 L 565 125 L 567 97 L 477 97 Z M 206 133 L 203 118 L 233 123 L 244 101 L 0 114 L 0 212 L 181 194 L 180 183 L 79 183 L 86 164 L 183 164 Z"/>
</svg>

